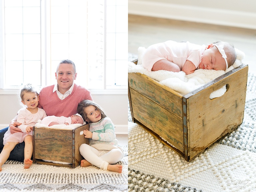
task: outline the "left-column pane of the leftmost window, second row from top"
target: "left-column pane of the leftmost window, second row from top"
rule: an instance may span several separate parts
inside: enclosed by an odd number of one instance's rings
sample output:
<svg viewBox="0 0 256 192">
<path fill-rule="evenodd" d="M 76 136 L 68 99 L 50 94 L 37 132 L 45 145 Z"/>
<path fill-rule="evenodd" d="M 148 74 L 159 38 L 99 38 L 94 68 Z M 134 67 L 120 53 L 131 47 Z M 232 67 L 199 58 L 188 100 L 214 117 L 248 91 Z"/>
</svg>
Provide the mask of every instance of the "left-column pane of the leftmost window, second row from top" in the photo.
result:
<svg viewBox="0 0 256 192">
<path fill-rule="evenodd" d="M 5 33 L 22 33 L 22 7 L 5 8 Z"/>
</svg>

